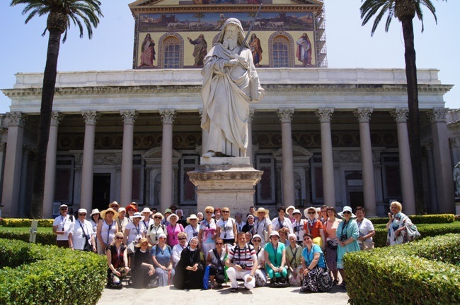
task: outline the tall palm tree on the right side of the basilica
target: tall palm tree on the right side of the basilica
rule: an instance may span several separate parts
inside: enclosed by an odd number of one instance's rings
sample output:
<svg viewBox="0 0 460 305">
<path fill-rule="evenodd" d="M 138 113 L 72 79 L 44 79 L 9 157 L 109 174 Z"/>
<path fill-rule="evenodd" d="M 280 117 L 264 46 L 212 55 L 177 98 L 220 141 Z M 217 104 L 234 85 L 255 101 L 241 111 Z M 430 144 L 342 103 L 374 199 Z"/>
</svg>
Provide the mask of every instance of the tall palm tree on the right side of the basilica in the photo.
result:
<svg viewBox="0 0 460 305">
<path fill-rule="evenodd" d="M 398 18 L 403 26 L 403 37 L 406 61 L 406 78 L 408 91 L 408 133 L 410 146 L 410 160 L 412 164 L 412 174 L 415 192 L 415 210 L 417 214 L 426 213 L 425 198 L 423 194 L 422 179 L 422 154 L 420 148 L 420 114 L 418 110 L 418 83 L 417 83 L 417 66 L 415 65 L 415 47 L 414 47 L 414 29 L 413 18 L 422 21 L 423 32 L 423 14 L 420 4 L 426 6 L 436 18 L 436 9 L 430 0 L 363 0 L 360 11 L 362 25 L 365 25 L 372 17 L 375 16 L 374 25 L 372 26 L 371 35 L 379 25 L 379 22 L 386 16 L 385 31 L 388 32 L 393 17 Z M 444 1 L 444 0 L 443 0 Z"/>
</svg>

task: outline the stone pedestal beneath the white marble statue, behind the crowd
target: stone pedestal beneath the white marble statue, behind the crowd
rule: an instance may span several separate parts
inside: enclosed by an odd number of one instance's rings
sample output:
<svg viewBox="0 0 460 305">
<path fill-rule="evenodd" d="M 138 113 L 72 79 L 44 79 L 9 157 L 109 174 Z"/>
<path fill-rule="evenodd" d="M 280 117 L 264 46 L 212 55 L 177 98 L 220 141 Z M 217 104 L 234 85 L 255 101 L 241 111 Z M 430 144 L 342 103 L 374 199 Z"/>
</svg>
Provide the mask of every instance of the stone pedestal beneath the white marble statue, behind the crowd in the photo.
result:
<svg viewBox="0 0 460 305">
<path fill-rule="evenodd" d="M 254 186 L 263 172 L 250 165 L 249 157 L 202 157 L 197 169 L 187 174 L 197 186 L 197 212 L 204 213 L 208 205 L 225 206 L 233 217 L 236 212 L 246 215 L 254 205 Z"/>
</svg>

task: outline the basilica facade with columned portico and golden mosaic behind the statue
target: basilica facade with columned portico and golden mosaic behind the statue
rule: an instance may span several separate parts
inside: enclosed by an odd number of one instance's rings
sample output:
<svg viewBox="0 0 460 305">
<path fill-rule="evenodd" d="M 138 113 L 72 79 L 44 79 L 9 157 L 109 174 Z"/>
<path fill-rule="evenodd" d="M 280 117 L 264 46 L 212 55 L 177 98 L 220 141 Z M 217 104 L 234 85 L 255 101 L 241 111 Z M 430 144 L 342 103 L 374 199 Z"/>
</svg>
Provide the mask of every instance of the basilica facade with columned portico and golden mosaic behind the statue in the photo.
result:
<svg viewBox="0 0 460 305">
<path fill-rule="evenodd" d="M 415 213 L 405 71 L 328 68 L 322 1 L 264 0 L 254 18 L 258 8 L 252 0 L 139 0 L 130 4 L 132 70 L 58 73 L 45 217 L 62 203 L 91 210 L 111 201 L 196 212 L 187 173 L 207 151 L 202 57 L 230 17 L 246 31 L 253 23 L 248 42 L 265 89 L 248 124 L 247 155 L 263 171 L 254 205 L 363 205 L 384 216 L 398 200 Z M 418 83 L 427 210 L 453 213 L 460 112 L 444 107 L 452 85 L 437 70 L 419 70 Z M 18 73 L 2 90 L 11 99 L 0 115 L 2 217 L 29 213 L 41 85 L 41 73 Z"/>
</svg>

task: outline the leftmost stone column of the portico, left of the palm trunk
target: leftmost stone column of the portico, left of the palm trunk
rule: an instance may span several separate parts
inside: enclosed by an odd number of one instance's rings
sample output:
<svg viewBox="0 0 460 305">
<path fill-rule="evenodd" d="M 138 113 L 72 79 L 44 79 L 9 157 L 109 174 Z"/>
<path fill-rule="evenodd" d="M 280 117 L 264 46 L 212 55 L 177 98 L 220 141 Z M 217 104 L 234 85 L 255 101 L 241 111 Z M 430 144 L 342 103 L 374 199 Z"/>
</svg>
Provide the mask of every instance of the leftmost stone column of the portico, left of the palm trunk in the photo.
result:
<svg viewBox="0 0 460 305">
<path fill-rule="evenodd" d="M 16 217 L 21 184 L 21 163 L 23 156 L 24 124 L 28 116 L 22 112 L 9 112 L 8 139 L 6 145 L 4 187 L 1 196 L 2 217 Z"/>
</svg>

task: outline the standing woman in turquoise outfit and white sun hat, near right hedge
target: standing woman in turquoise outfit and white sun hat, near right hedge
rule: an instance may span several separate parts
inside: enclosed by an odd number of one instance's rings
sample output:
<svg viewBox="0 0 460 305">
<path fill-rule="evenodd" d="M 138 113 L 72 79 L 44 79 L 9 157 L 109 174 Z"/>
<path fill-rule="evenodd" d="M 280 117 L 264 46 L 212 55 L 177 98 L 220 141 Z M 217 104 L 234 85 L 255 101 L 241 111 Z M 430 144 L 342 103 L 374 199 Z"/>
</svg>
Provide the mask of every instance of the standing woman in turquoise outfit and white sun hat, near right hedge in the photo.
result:
<svg viewBox="0 0 460 305">
<path fill-rule="evenodd" d="M 356 221 L 356 215 L 352 213 L 352 208 L 345 205 L 342 212 L 338 213 L 343 217 L 337 227 L 338 247 L 337 247 L 337 268 L 342 277 L 341 287 L 345 287 L 345 270 L 343 269 L 343 256 L 348 252 L 360 251 L 360 245 L 357 240 L 360 237 L 360 230 Z"/>
</svg>

